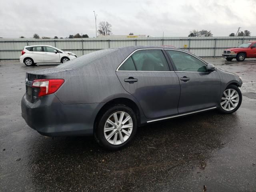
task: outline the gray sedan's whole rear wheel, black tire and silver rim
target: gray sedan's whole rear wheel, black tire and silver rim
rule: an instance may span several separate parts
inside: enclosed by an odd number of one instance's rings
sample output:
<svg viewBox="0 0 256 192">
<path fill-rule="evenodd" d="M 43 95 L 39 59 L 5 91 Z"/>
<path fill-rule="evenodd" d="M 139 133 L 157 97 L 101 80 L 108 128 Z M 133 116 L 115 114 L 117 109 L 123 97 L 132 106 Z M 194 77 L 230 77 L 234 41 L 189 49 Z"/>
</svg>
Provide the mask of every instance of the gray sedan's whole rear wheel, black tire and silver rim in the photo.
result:
<svg viewBox="0 0 256 192">
<path fill-rule="evenodd" d="M 100 145 L 108 150 L 118 150 L 134 137 L 137 119 L 131 108 L 116 104 L 102 115 L 96 129 Z"/>
</svg>

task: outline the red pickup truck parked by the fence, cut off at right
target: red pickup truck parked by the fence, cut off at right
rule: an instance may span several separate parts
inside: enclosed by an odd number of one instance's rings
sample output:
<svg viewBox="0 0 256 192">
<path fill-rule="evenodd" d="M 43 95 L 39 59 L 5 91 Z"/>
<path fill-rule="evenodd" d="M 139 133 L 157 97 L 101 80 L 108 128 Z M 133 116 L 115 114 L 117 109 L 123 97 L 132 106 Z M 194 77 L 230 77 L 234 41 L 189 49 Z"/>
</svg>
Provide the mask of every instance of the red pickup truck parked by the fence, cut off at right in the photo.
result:
<svg viewBox="0 0 256 192">
<path fill-rule="evenodd" d="M 222 56 L 228 61 L 234 58 L 237 61 L 244 61 L 245 58 L 256 58 L 256 42 L 247 42 L 237 48 L 225 49 Z"/>
</svg>

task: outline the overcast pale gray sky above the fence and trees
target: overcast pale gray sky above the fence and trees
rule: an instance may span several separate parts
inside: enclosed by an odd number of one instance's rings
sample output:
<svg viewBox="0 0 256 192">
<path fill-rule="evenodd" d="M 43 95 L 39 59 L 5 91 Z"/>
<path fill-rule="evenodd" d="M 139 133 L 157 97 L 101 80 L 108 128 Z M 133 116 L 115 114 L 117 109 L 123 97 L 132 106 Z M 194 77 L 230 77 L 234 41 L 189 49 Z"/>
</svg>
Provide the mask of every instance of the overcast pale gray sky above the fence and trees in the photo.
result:
<svg viewBox="0 0 256 192">
<path fill-rule="evenodd" d="M 1 0 L 0 37 L 95 36 L 95 18 L 114 35 L 188 36 L 193 29 L 256 36 L 256 0 Z"/>
</svg>

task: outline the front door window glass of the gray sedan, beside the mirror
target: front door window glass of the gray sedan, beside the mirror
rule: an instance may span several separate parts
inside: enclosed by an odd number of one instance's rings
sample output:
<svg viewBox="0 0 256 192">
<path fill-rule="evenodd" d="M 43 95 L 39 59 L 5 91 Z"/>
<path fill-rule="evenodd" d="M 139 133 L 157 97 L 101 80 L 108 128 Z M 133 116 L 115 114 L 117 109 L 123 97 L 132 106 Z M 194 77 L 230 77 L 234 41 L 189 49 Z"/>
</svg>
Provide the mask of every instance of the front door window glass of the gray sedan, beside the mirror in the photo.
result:
<svg viewBox="0 0 256 192">
<path fill-rule="evenodd" d="M 207 72 L 206 64 L 198 58 L 181 51 L 167 50 L 176 71 Z"/>
</svg>

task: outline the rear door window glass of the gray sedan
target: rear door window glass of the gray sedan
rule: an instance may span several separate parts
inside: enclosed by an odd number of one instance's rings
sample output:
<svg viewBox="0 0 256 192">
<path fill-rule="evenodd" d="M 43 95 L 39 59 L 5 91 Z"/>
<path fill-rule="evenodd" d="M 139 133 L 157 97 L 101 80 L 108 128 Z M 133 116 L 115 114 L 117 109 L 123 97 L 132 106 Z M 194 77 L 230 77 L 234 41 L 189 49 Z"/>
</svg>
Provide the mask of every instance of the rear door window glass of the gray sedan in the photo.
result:
<svg viewBox="0 0 256 192">
<path fill-rule="evenodd" d="M 138 50 L 132 58 L 138 71 L 170 71 L 162 50 Z"/>
</svg>

